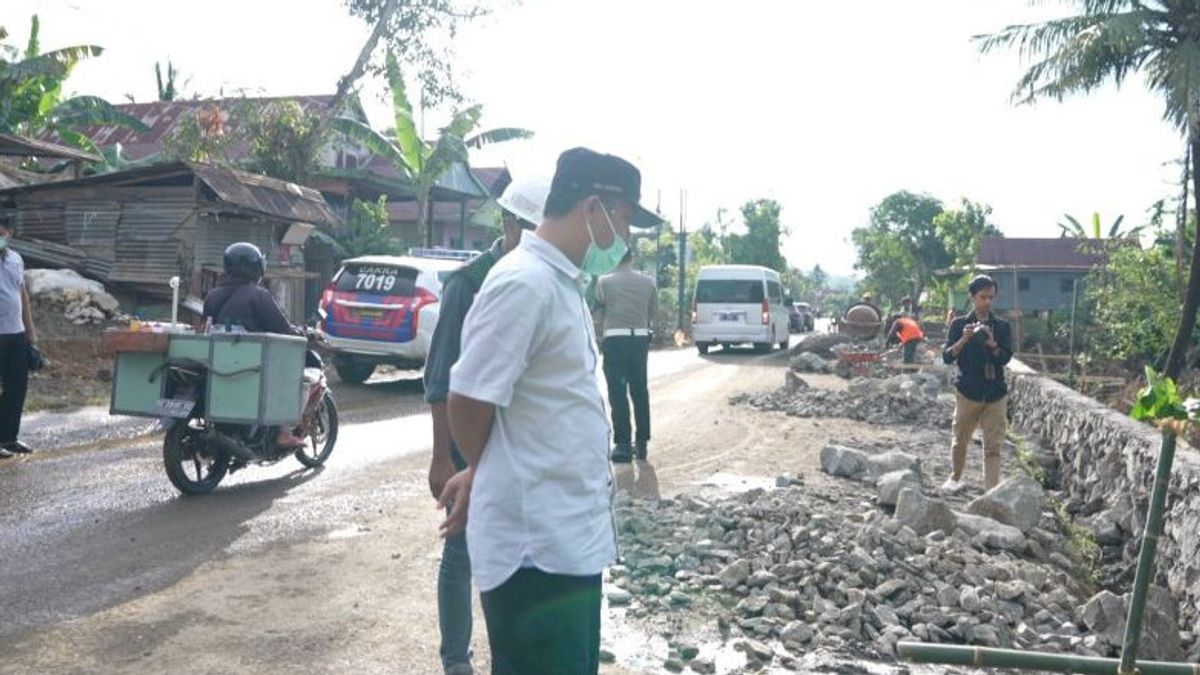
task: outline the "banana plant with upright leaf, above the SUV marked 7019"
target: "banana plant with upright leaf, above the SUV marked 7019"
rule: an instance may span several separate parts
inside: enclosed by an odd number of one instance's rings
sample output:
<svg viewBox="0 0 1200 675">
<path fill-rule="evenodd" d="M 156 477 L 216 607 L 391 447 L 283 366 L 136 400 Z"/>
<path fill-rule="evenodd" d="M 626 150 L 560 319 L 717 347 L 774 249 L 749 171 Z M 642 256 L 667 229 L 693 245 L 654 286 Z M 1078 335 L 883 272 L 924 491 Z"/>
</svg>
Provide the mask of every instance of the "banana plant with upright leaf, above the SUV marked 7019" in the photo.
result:
<svg viewBox="0 0 1200 675">
<path fill-rule="evenodd" d="M 396 166 L 396 171 L 408 179 L 416 197 L 416 231 L 425 244 L 432 246 L 433 232 L 428 227 L 430 197 L 438 179 L 450 172 L 456 163 L 467 163 L 468 148 L 529 138 L 533 132 L 512 127 L 475 132 L 479 118 L 482 115 L 482 106 L 475 104 L 456 112 L 450 123 L 440 130 L 437 139 L 425 141 L 413 118 L 413 106 L 408 100 L 400 62 L 390 52 L 386 76 L 396 120 L 388 136 L 355 119 L 335 118 L 331 124 L 336 131 L 361 143 L 372 153 L 389 159 Z"/>
</svg>

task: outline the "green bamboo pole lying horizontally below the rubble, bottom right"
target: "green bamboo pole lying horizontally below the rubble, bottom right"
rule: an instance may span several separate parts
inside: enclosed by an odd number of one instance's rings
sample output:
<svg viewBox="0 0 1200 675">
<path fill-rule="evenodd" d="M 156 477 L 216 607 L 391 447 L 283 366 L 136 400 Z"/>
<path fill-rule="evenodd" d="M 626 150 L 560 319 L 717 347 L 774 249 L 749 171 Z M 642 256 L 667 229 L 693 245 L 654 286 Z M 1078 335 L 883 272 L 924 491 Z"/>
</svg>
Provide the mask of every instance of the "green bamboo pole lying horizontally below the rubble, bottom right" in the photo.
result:
<svg viewBox="0 0 1200 675">
<path fill-rule="evenodd" d="M 1043 653 L 1034 651 L 997 650 L 964 645 L 925 645 L 900 643 L 900 658 L 913 663 L 944 663 L 947 665 L 971 665 L 976 668 L 1015 668 L 1050 673 L 1076 673 L 1080 675 L 1118 675 L 1120 661 L 1069 653 Z M 1200 675 L 1200 664 L 1142 661 L 1136 665 L 1140 675 Z M 1134 673 L 1133 670 L 1128 673 Z"/>
</svg>

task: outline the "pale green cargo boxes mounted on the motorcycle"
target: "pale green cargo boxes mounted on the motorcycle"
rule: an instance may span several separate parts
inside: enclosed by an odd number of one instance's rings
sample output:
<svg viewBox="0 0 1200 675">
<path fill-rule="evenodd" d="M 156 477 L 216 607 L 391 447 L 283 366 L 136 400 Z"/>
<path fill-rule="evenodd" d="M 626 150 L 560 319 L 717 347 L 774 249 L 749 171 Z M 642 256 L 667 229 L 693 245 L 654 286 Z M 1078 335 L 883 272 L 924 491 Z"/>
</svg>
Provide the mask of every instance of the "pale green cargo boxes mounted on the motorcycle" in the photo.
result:
<svg viewBox="0 0 1200 675">
<path fill-rule="evenodd" d="M 163 417 L 166 368 L 187 359 L 208 370 L 205 416 L 212 422 L 290 425 L 300 420 L 307 341 L 266 333 L 172 335 L 166 354 L 118 352 L 113 414 Z"/>
</svg>

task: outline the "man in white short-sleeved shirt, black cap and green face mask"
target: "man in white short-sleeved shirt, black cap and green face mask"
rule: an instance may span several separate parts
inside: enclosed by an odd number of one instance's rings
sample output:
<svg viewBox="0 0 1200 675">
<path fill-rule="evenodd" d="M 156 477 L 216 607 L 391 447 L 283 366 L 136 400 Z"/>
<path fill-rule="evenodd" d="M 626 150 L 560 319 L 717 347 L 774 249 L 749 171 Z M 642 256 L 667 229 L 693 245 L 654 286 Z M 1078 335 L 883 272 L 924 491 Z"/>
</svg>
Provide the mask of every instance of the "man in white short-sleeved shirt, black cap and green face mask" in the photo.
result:
<svg viewBox="0 0 1200 675">
<path fill-rule="evenodd" d="M 450 374 L 450 431 L 468 467 L 439 500 L 466 525 L 493 675 L 587 675 L 600 664 L 600 574 L 617 552 L 608 422 L 583 298 L 616 269 L 638 205 L 634 165 L 575 148 L 545 220 L 492 268 Z"/>
</svg>

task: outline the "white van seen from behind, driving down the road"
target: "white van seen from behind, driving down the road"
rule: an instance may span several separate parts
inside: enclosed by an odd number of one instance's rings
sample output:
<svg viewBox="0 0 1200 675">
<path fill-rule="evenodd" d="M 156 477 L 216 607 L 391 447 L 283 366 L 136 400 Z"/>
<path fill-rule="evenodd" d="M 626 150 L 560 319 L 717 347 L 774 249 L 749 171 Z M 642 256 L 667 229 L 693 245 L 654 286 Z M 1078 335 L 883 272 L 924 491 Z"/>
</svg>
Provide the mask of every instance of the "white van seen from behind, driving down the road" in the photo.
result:
<svg viewBox="0 0 1200 675">
<path fill-rule="evenodd" d="M 779 273 L 757 265 L 708 265 L 696 276 L 692 340 L 700 353 L 752 344 L 758 352 L 786 350 L 790 333 Z"/>
</svg>

